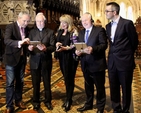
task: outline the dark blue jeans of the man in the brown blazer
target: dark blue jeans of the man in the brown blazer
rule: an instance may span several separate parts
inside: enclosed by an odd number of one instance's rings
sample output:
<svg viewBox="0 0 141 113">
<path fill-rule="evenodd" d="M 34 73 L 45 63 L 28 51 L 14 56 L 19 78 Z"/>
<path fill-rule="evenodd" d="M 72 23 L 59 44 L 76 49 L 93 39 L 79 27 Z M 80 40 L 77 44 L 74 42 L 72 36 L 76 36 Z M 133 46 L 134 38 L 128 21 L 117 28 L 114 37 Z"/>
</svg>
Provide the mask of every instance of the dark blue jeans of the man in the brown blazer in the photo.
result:
<svg viewBox="0 0 141 113">
<path fill-rule="evenodd" d="M 22 100 L 25 62 L 20 58 L 16 66 L 5 66 L 6 69 L 6 104 L 7 108 L 14 108 L 13 100 L 18 103 Z"/>
</svg>

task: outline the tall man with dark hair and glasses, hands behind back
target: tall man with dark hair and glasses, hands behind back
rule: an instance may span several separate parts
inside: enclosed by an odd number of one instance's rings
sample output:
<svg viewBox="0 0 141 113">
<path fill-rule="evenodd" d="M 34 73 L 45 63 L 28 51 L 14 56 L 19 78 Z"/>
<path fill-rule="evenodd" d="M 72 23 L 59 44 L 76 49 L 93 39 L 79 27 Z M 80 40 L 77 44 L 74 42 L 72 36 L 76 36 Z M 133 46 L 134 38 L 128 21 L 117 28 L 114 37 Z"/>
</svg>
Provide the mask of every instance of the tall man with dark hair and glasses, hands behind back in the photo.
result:
<svg viewBox="0 0 141 113">
<path fill-rule="evenodd" d="M 106 25 L 110 43 L 108 74 L 114 113 L 129 113 L 135 68 L 134 52 L 138 46 L 138 36 L 133 22 L 120 17 L 119 11 L 120 6 L 117 3 L 107 3 L 106 17 L 112 20 Z M 122 89 L 122 104 L 120 88 Z"/>
</svg>

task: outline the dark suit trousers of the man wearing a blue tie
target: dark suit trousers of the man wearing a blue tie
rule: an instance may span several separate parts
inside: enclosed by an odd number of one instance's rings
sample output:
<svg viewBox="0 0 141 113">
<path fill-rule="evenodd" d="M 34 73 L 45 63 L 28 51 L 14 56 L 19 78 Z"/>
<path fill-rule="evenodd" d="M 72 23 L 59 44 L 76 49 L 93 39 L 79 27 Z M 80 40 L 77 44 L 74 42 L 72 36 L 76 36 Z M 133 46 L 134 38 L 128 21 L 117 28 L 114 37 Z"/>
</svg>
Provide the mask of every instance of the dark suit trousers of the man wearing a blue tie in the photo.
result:
<svg viewBox="0 0 141 113">
<path fill-rule="evenodd" d="M 94 99 L 94 85 L 96 87 L 96 105 L 97 109 L 103 111 L 106 102 L 105 94 L 105 71 L 95 72 L 95 73 L 84 73 L 85 78 L 85 92 L 87 100 L 85 105 L 93 107 Z"/>
</svg>

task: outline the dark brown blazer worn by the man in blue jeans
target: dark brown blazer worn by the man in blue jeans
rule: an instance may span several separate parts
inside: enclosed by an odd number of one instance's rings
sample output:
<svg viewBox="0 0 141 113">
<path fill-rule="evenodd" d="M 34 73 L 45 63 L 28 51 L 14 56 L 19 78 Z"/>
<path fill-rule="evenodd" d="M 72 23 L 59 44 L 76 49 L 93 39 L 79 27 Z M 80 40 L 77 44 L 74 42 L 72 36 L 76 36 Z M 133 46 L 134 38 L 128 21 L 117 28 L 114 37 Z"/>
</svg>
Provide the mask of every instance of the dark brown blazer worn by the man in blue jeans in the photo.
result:
<svg viewBox="0 0 141 113">
<path fill-rule="evenodd" d="M 28 28 L 25 28 L 25 37 L 28 36 Z M 6 26 L 4 43 L 5 54 L 4 63 L 10 66 L 16 66 L 19 63 L 21 52 L 23 51 L 24 61 L 26 63 L 27 45 L 18 48 L 18 42 L 22 40 L 20 28 L 17 22 Z"/>
</svg>

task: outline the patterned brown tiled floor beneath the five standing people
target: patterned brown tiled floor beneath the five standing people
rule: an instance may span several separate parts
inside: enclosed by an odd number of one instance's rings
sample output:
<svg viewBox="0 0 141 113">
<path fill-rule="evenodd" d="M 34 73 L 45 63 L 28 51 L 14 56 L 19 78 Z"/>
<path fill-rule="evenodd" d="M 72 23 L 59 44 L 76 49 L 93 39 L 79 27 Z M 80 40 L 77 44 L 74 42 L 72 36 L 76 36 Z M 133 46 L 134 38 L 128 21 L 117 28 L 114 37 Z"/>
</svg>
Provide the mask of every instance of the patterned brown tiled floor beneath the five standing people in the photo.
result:
<svg viewBox="0 0 141 113">
<path fill-rule="evenodd" d="M 133 88 L 132 88 L 132 103 L 131 103 L 131 113 L 141 113 L 141 72 L 140 66 L 141 60 L 137 59 L 137 66 L 134 71 L 134 79 L 133 79 Z M 4 75 L 5 71 L 0 69 L 0 73 Z M 3 76 L 4 77 L 4 76 Z M 77 108 L 83 106 L 85 103 L 85 91 L 84 91 L 84 79 L 82 76 L 81 68 L 78 66 L 76 77 L 75 77 L 75 90 L 73 96 L 73 105 L 71 110 L 68 113 L 77 113 Z M 65 87 L 62 74 L 59 69 L 58 62 L 54 60 L 53 63 L 53 71 L 51 77 L 51 84 L 52 84 L 52 104 L 53 110 L 49 111 L 45 106 L 44 103 L 41 103 L 41 109 L 38 113 L 65 113 L 64 110 L 61 108 L 63 101 L 65 100 Z M 109 81 L 106 73 L 106 106 L 105 106 L 105 113 L 112 113 L 111 109 L 111 102 L 110 102 L 110 95 L 109 95 Z M 44 88 L 43 84 L 41 83 L 41 101 L 44 100 Z M 25 85 L 24 85 L 24 92 L 23 92 L 23 101 L 27 105 L 27 113 L 31 113 L 32 107 L 32 84 L 31 84 L 31 76 L 29 67 L 26 68 L 26 76 L 25 76 Z M 2 113 L 5 109 L 5 78 L 0 78 L 0 113 Z M 15 113 L 22 111 L 21 109 L 16 108 Z M 94 99 L 94 109 L 88 110 L 84 113 L 96 113 L 95 108 L 95 99 Z"/>
</svg>

